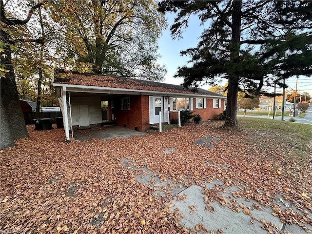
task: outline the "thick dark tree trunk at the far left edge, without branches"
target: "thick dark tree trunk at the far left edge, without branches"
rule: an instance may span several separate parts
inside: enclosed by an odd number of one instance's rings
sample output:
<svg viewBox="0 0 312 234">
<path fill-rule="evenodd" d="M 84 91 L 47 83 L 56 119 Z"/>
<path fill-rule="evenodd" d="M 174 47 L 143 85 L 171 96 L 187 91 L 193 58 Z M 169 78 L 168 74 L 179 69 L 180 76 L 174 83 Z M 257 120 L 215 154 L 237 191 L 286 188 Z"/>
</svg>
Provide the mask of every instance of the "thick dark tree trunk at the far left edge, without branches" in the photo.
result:
<svg viewBox="0 0 312 234">
<path fill-rule="evenodd" d="M 11 49 L 8 45 L 9 36 L 1 27 L 1 41 L 6 43 L 1 52 L 1 65 L 5 65 L 7 72 L 0 79 L 0 148 L 14 146 L 14 140 L 28 137 L 25 120 L 20 107 L 20 98 L 15 81 L 14 69 L 11 63 Z"/>
</svg>

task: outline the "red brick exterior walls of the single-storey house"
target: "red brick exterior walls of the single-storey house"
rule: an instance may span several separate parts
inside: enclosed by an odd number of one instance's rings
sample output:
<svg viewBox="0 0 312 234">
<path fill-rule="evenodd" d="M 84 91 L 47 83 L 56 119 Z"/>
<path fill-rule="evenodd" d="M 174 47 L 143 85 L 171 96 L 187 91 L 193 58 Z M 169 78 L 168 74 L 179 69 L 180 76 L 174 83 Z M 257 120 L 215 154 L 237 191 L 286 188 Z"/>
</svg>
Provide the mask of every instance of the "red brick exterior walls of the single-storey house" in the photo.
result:
<svg viewBox="0 0 312 234">
<path fill-rule="evenodd" d="M 130 110 L 121 110 L 121 98 L 130 98 Z M 111 100 L 108 102 L 108 115 L 110 120 L 114 120 L 118 126 L 124 126 L 129 129 L 146 132 L 150 128 L 149 123 L 149 96 L 148 95 L 123 95 L 114 98 L 114 116 L 111 119 Z M 169 100 L 169 97 L 168 97 Z M 193 114 L 199 114 L 202 121 L 213 119 L 224 110 L 224 99 L 221 100 L 220 108 L 213 108 L 213 99 L 207 98 L 206 108 L 196 109 L 195 98 L 193 98 Z M 168 108 L 169 109 L 169 108 Z M 178 112 L 169 112 L 170 121 L 177 120 Z"/>
</svg>

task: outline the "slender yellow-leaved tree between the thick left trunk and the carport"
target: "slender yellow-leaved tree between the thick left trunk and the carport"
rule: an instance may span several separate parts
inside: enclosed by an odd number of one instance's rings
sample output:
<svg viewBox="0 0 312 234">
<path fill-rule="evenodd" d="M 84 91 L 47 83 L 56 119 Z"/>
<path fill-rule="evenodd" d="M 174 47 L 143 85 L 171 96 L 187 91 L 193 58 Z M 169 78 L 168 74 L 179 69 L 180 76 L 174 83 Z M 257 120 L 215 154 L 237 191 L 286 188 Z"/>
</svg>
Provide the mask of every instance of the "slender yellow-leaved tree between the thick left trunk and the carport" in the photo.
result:
<svg viewBox="0 0 312 234">
<path fill-rule="evenodd" d="M 25 6 L 31 5 L 33 0 L 10 1 L 7 9 L 11 14 L 19 17 Z M 19 11 L 15 11 L 18 8 Z M 39 106 L 56 103 L 52 74 L 58 67 L 58 60 L 54 57 L 56 46 L 61 41 L 60 26 L 49 17 L 45 4 L 34 12 L 32 19 L 25 25 L 11 30 L 12 41 L 16 50 L 12 53 L 12 64 L 15 69 L 17 86 L 20 97 L 37 101 L 36 117 L 41 117 Z M 36 95 L 33 95 L 33 90 Z"/>
</svg>

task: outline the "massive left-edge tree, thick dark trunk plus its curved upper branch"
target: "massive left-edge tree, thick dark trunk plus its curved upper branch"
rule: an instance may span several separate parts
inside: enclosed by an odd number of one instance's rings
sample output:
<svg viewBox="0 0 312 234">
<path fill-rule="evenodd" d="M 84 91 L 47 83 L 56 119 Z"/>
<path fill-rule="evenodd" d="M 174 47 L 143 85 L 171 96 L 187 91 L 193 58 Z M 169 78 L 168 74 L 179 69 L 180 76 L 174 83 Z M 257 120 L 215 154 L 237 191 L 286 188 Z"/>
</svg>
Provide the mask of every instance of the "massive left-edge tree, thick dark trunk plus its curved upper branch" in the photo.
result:
<svg viewBox="0 0 312 234">
<path fill-rule="evenodd" d="M 28 137 L 25 121 L 20 108 L 20 100 L 16 86 L 14 68 L 11 62 L 11 53 L 13 42 L 11 41 L 9 31 L 14 30 L 18 25 L 26 24 L 32 17 L 34 11 L 43 3 L 40 2 L 30 7 L 27 17 L 24 20 L 7 18 L 5 5 L 0 0 L 0 62 L 1 62 L 1 136 L 0 148 L 11 147 L 14 140 L 22 137 Z"/>
</svg>

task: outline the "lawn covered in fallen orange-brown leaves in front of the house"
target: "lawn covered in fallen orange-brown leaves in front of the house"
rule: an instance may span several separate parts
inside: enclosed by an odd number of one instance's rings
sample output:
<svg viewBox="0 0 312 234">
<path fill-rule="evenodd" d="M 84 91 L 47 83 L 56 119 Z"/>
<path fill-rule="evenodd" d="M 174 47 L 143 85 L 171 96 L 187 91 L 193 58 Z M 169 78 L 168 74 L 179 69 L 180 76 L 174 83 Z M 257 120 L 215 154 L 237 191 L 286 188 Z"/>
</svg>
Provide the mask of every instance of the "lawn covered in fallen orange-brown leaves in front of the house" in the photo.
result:
<svg viewBox="0 0 312 234">
<path fill-rule="evenodd" d="M 312 225 L 307 145 L 294 144 L 285 131 L 231 130 L 222 124 L 202 122 L 142 137 L 68 143 L 63 129 L 33 131 L 28 126 L 29 138 L 0 151 L 0 231 L 188 233 L 169 209 L 171 195 L 159 199 L 153 187 L 137 181 L 136 170 L 128 170 L 124 160 L 184 186 L 213 179 L 239 185 L 245 190 L 236 196 L 271 206 L 283 222 Z M 214 149 L 194 144 L 208 136 L 221 139 Z M 168 149 L 175 150 L 164 154 Z M 299 212 L 273 206 L 278 194 Z M 220 197 L 207 195 L 222 203 Z"/>
</svg>

